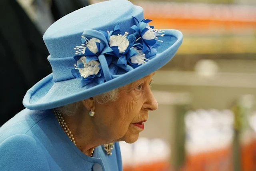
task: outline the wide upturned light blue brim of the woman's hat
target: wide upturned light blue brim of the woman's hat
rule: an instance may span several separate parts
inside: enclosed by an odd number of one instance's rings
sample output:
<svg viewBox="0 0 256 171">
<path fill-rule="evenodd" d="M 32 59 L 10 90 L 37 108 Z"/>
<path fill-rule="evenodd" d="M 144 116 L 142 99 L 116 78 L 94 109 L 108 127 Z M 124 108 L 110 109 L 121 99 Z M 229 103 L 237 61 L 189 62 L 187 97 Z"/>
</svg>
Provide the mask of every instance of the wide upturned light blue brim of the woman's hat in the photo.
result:
<svg viewBox="0 0 256 171">
<path fill-rule="evenodd" d="M 151 74 L 174 57 L 183 40 L 178 30 L 164 31 L 163 43 L 157 48 L 156 56 L 146 64 L 103 84 L 92 83 L 84 87 L 81 87 L 79 78 L 53 82 L 50 74 L 27 91 L 23 105 L 31 110 L 52 109 L 122 87 Z"/>
</svg>

